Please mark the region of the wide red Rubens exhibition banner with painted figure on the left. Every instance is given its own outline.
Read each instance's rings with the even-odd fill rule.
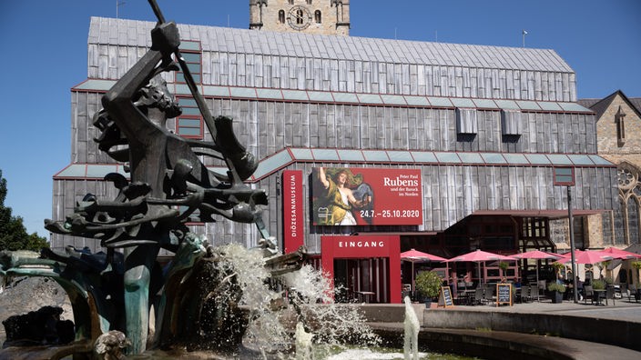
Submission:
[[[420,169],[315,167],[313,225],[422,225]]]

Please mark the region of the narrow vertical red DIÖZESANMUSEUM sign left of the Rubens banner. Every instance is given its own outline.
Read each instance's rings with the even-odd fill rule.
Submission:
[[[302,170],[282,172],[283,247],[289,254],[305,245],[303,227]]]

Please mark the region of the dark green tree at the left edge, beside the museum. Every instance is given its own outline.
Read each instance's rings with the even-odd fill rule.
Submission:
[[[43,247],[49,247],[46,237],[26,233],[22,217],[12,215],[11,207],[5,206],[6,193],[6,179],[0,170],[0,250],[39,252]]]

